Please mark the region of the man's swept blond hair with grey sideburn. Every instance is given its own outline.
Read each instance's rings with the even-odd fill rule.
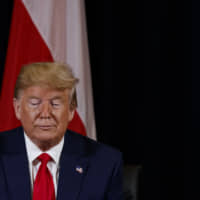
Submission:
[[[17,77],[14,97],[19,92],[31,86],[47,86],[56,90],[71,90],[71,106],[77,107],[75,86],[78,79],[72,73],[69,65],[58,62],[40,62],[24,65]]]

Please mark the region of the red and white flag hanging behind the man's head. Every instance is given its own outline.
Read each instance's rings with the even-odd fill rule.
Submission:
[[[59,61],[76,77],[78,108],[69,129],[96,139],[83,0],[14,0],[0,96],[0,131],[20,126],[13,109],[17,75],[24,64]]]

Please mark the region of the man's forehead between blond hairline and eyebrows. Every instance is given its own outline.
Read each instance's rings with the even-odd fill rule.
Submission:
[[[45,98],[45,99],[55,98],[55,97],[68,98],[69,92],[70,92],[69,89],[57,90],[57,89],[52,89],[46,86],[31,86],[21,91],[20,96],[26,97],[26,98],[36,97],[36,98]]]

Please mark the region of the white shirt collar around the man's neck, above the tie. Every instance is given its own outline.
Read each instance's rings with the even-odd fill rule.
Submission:
[[[62,151],[63,145],[64,145],[64,137],[57,145],[55,145],[54,147],[52,147],[51,149],[49,149],[48,151],[45,151],[45,152],[41,151],[37,147],[37,145],[35,145],[31,141],[31,139],[26,135],[25,132],[24,132],[24,137],[25,137],[26,150],[27,150],[27,154],[28,154],[28,160],[30,163],[32,163],[40,154],[48,153],[51,156],[51,158],[53,159],[53,161],[56,163],[56,165],[58,166],[61,151]]]

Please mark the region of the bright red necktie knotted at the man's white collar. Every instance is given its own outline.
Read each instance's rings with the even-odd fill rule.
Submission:
[[[41,161],[41,165],[34,182],[33,200],[55,200],[53,178],[47,167],[51,157],[47,153],[43,153],[38,159]]]

